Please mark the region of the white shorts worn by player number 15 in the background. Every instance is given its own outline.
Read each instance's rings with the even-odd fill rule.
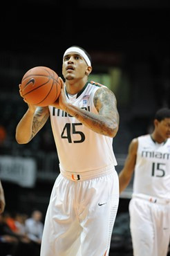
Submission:
[[[129,204],[134,256],[167,256],[170,201],[138,194]]]

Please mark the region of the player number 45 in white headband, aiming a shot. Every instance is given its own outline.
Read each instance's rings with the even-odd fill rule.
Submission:
[[[35,107],[17,125],[18,143],[28,143],[48,116],[60,174],[50,196],[41,256],[106,256],[119,202],[113,137],[119,126],[115,95],[89,82],[91,57],[78,46],[63,57],[62,91],[53,106]],[[20,94],[22,95],[21,89]]]

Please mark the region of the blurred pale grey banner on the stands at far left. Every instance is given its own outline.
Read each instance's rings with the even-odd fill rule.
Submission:
[[[21,187],[32,188],[35,185],[37,165],[33,158],[0,156],[0,179],[11,181]]]

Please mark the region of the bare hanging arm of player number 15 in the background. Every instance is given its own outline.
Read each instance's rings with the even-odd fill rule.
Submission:
[[[129,145],[129,152],[124,167],[119,174],[120,193],[129,185],[135,168],[136,154],[138,149],[138,138],[133,138]]]

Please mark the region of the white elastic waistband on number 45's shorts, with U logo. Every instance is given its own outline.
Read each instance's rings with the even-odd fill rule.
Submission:
[[[109,165],[103,169],[93,170],[88,172],[66,172],[60,167],[60,173],[71,181],[85,181],[87,179],[97,178],[106,174],[111,174],[115,171],[115,165]]]

